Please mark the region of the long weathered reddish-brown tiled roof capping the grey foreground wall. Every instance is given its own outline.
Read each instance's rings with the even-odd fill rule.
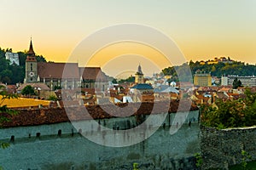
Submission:
[[[10,119],[9,122],[3,122],[2,127],[21,127],[58,122],[79,121],[86,119],[103,119],[111,118],[115,114],[117,116],[127,116],[128,114],[130,116],[131,114],[129,110],[128,113],[117,110],[115,105],[113,104],[105,106],[108,107],[108,111],[111,111],[110,113],[102,110],[102,107],[100,105],[89,105],[86,106],[86,110],[89,112],[90,115],[88,113],[84,114],[84,106],[79,106],[78,101],[74,100],[72,102],[77,102],[77,104],[73,107],[66,108],[43,108],[29,110],[22,109],[18,110],[19,114],[15,116],[9,116],[9,114],[6,113],[0,113],[0,116],[6,116]],[[158,105],[154,105],[154,103],[143,102],[142,104],[130,103],[129,106],[131,106],[131,109],[135,111],[134,115],[158,114],[166,111],[166,109],[168,109],[168,112],[170,113],[175,113],[178,111],[178,109],[179,111],[188,111],[188,109],[190,109],[190,111],[198,110],[195,105],[190,105],[190,102],[188,102],[188,100],[180,100],[179,103],[176,100],[172,100],[171,102],[158,102],[157,104]],[[120,104],[119,107],[125,107],[127,105],[128,104]]]

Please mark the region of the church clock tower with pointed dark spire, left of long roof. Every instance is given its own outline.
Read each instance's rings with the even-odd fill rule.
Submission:
[[[24,83],[37,82],[38,78],[38,62],[30,40],[29,50],[26,56],[26,78]]]

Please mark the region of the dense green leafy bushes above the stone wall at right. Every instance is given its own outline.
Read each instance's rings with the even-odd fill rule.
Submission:
[[[251,127],[256,125],[256,94],[246,91],[245,99],[216,101],[202,105],[201,123],[207,127]]]

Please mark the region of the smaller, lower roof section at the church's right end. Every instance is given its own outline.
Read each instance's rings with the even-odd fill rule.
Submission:
[[[108,80],[101,67],[79,67],[79,75],[84,80]]]

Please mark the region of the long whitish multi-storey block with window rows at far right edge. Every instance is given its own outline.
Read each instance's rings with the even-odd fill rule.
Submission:
[[[241,85],[244,87],[256,87],[256,77],[254,76],[237,76],[237,75],[228,75],[221,77],[221,85],[227,86],[227,85],[233,85],[233,82],[235,79],[238,79],[241,81]]]

